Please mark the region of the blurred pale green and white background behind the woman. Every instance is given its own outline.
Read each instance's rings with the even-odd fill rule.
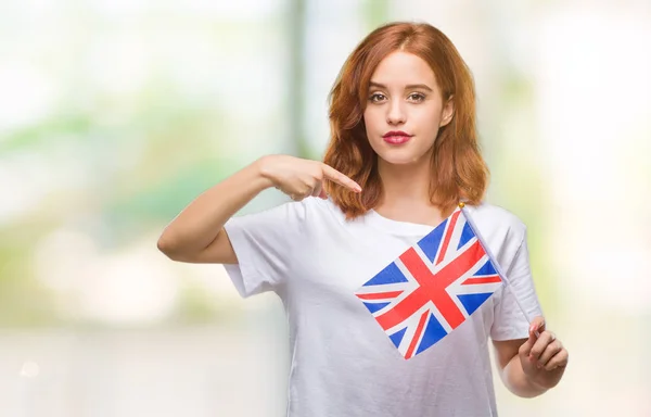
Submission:
[[[1,417],[283,415],[279,300],[156,240],[260,155],[320,159],[341,65],[395,20],[472,68],[487,200],[571,353],[541,397],[496,378],[500,415],[651,416],[650,1],[1,0]]]

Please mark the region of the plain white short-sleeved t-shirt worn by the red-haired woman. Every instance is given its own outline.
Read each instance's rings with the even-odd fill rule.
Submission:
[[[531,317],[540,314],[525,226],[503,208],[467,206]],[[244,298],[275,291],[289,317],[288,416],[496,416],[488,339],[527,338],[505,286],[432,348],[405,359],[356,290],[433,227],[374,211],[346,220],[309,198],[225,226],[238,265],[225,265]]]

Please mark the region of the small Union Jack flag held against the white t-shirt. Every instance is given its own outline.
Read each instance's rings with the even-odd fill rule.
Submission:
[[[355,294],[409,359],[459,327],[501,283],[457,208]]]

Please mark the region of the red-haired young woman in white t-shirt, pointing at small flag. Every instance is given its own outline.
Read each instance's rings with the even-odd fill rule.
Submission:
[[[489,339],[514,394],[554,387],[567,352],[545,328],[525,226],[482,202],[474,87],[450,40],[427,24],[372,31],[332,89],[330,122],[323,162],[264,156],[196,198],[158,241],[171,260],[225,264],[242,296],[281,298],[292,350],[288,414],[495,416]],[[233,217],[271,187],[294,202]],[[356,290],[460,201],[511,288],[406,361]]]

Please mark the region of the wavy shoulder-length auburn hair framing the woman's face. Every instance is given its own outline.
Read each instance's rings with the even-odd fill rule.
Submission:
[[[362,188],[361,193],[354,193],[332,182],[324,185],[347,218],[375,207],[382,197],[378,156],[367,138],[363,112],[372,74],[386,55],[398,50],[424,60],[434,72],[444,103],[450,99],[454,103],[452,118],[434,142],[432,203],[447,213],[459,201],[478,204],[486,190],[488,168],[477,142],[470,70],[437,28],[425,23],[391,23],[370,33],[350,53],[329,96],[331,137],[323,162]]]

